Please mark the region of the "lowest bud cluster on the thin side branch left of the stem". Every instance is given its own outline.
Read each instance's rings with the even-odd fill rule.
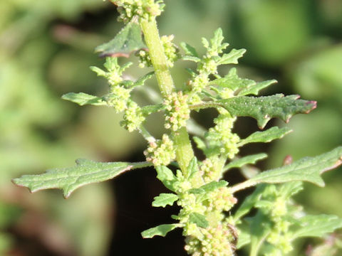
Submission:
[[[120,123],[128,129],[128,132],[133,132],[140,127],[142,122],[145,121],[145,117],[142,114],[141,107],[137,103],[130,100],[128,102],[127,109],[123,115],[123,121]]]

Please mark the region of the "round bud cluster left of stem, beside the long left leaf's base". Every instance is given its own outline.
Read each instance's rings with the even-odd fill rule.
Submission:
[[[163,134],[161,140],[150,142],[144,154],[146,161],[150,161],[154,166],[167,166],[176,157],[173,142],[167,134]]]

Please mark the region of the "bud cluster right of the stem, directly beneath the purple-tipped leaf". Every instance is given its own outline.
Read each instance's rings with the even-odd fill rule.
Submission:
[[[235,119],[236,117],[232,117],[227,111],[214,119],[216,125],[210,128],[206,135],[213,153],[222,154],[222,156],[232,159],[239,152],[237,144],[240,138],[232,132]]]

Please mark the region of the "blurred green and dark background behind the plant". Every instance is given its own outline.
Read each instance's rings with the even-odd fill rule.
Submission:
[[[267,151],[264,169],[281,165],[288,154],[296,160],[342,144],[341,0],[165,2],[158,19],[162,34],[202,49],[200,38],[222,27],[232,47],[247,48],[239,75],[278,80],[265,95],[284,92],[318,101],[311,114],[286,124],[293,133],[242,154]],[[163,189],[152,170],[81,188],[67,201],[59,191],[31,195],[11,183],[21,174],[71,166],[79,157],[143,159],[145,142],[120,127],[119,114],[60,99],[66,92],[105,92],[105,80],[88,67],[102,65],[93,49],[123,26],[116,18],[115,6],[100,0],[0,1],[0,255],[185,255],[180,233],[140,238],[142,230],[170,222],[177,211],[150,206]],[[172,70],[179,86],[187,79],[187,64]],[[138,77],[146,70],[129,72]],[[209,126],[210,120],[199,122]],[[238,122],[242,136],[256,129],[249,119]],[[309,213],[342,217],[342,174],[335,170],[324,178],[326,188],[306,185],[297,199]]]

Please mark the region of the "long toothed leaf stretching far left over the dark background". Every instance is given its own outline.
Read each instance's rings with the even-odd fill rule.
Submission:
[[[101,163],[86,159],[77,159],[76,166],[51,169],[44,174],[24,175],[14,178],[12,181],[18,186],[27,187],[31,193],[42,189],[59,188],[63,191],[63,196],[68,198],[76,188],[81,186],[107,181],[125,171],[151,166],[150,163],[126,163],[113,162]]]

